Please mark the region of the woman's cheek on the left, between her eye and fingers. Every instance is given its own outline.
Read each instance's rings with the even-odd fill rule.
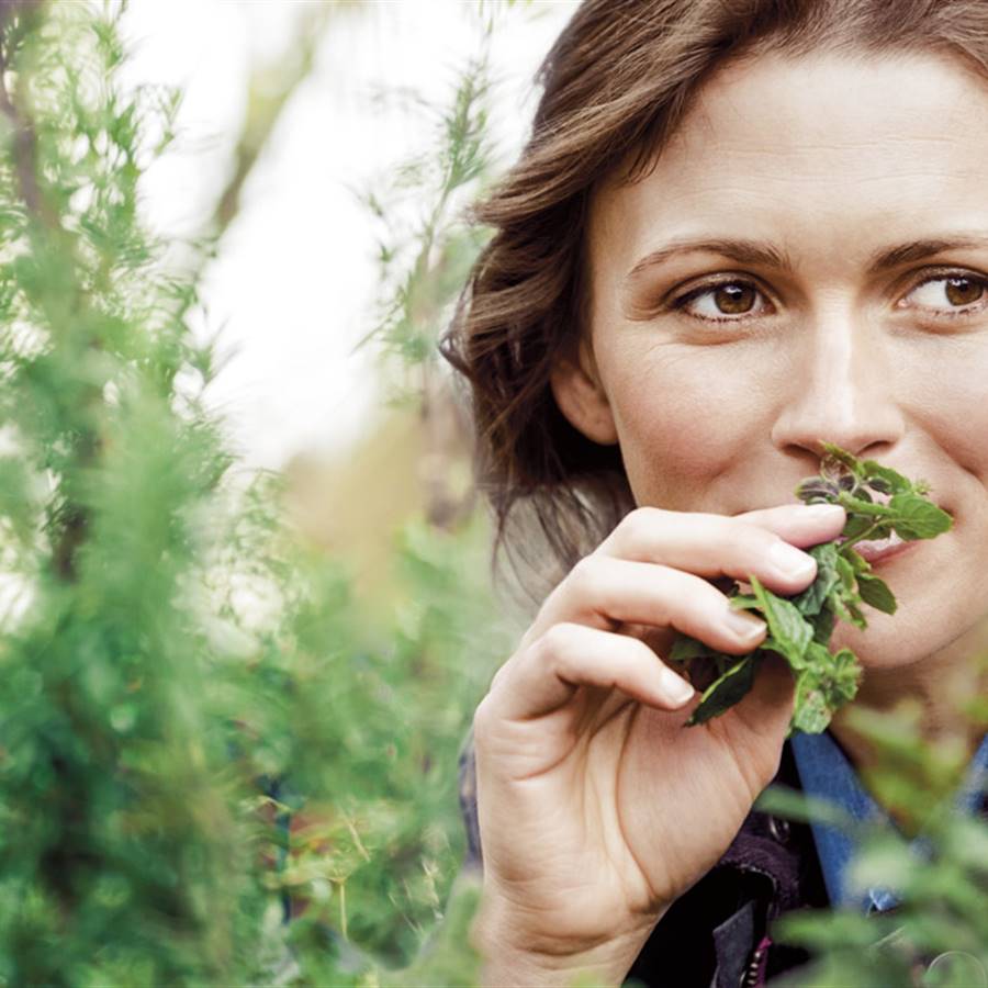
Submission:
[[[655,348],[622,361],[611,407],[638,504],[717,508],[718,478],[743,458],[768,401],[726,350]]]

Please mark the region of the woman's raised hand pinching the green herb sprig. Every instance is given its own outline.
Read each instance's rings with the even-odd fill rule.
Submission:
[[[793,677],[770,659],[742,703],[685,728],[696,694],[662,656],[676,631],[751,651],[765,625],[709,581],[798,593],[816,563],[795,547],[843,524],[829,505],[639,508],[546,599],[474,717],[487,980],[583,962],[619,983],[723,854],[777,771]]]

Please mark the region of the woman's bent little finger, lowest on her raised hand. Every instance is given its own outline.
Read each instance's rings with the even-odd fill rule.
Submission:
[[[694,695],[642,641],[585,625],[553,625],[499,670],[478,717],[529,720],[558,710],[581,686],[617,688],[675,710]]]

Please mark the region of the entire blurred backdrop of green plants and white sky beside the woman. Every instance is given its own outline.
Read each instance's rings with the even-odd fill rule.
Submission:
[[[0,985],[475,981],[436,341],[572,9],[0,7]]]

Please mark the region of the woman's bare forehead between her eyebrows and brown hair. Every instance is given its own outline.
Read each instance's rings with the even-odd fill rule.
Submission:
[[[988,82],[959,57],[737,63],[700,90],[643,179],[596,192],[592,268],[633,265],[677,236],[765,237],[850,260],[852,246],[871,256],[883,239],[969,227],[976,214],[988,228],[986,162]]]

